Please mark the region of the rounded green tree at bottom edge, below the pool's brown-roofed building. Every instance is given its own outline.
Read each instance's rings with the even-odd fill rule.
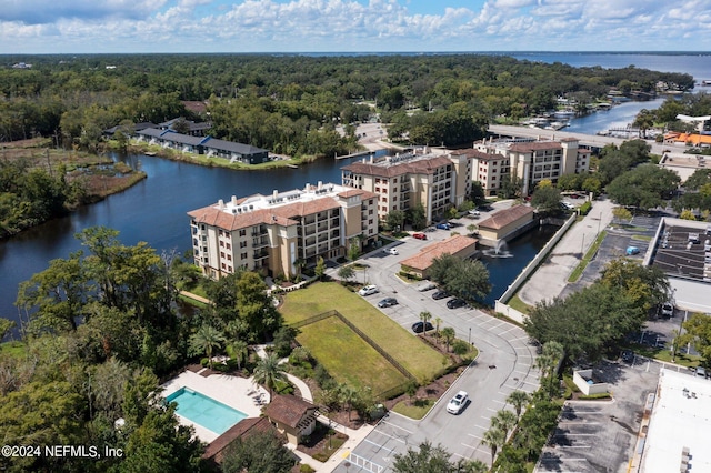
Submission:
[[[234,440],[220,464],[224,473],[289,473],[298,457],[270,432]]]

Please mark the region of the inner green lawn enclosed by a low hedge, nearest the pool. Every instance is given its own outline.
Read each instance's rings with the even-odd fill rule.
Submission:
[[[370,386],[378,394],[408,381],[375,349],[336,316],[299,330],[299,343],[307,346],[311,355],[340,383],[356,388]]]

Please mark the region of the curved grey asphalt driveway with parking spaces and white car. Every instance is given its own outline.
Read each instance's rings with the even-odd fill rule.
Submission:
[[[424,440],[434,445],[442,444],[453,454],[453,460],[479,459],[489,463],[491,453],[481,444],[481,439],[490,426],[490,419],[497,411],[507,409],[505,399],[512,391],[538,389],[540,373],[532,368],[535,348],[528,343],[522,329],[475,309],[450,310],[447,300],[432,300],[433,291],[418,292],[418,283],[408,284],[395,275],[400,260],[415,254],[432,241],[449,236],[449,232],[442,230],[427,234],[429,240],[424,242],[407,238],[388,246],[397,248],[399,255],[382,251],[365,255],[359,262],[368,264],[369,269],[359,272],[357,279],[362,282],[367,278],[380,289],[380,293],[365,298],[373,304],[385,296],[398,299],[398,305],[382,311],[408,331],[419,321],[420,312],[429,311],[433,319],[442,319],[441,326],[452,326],[459,339],[474,343],[480,351],[479,359],[450,386],[427,417],[413,421],[391,413],[341,462],[337,472],[387,471],[395,453],[417,447]],[[459,390],[467,391],[471,402],[454,416],[448,414],[445,407]],[[347,467],[347,463],[350,466]]]

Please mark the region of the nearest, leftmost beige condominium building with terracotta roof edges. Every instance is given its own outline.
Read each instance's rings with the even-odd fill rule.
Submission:
[[[290,278],[319,256],[343,256],[378,238],[378,195],[338,184],[307,184],[188,212],[196,264],[219,279],[243,268]]]

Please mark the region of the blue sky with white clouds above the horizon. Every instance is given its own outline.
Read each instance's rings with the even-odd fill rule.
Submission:
[[[711,51],[711,0],[2,0],[0,53]]]

